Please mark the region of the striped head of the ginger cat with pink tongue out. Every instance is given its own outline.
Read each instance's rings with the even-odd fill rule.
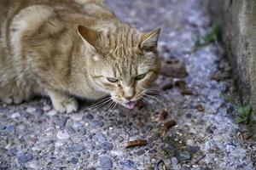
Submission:
[[[87,69],[96,89],[114,102],[133,109],[160,72],[157,42],[160,29],[141,32],[122,25],[108,30],[79,26],[89,48]]]

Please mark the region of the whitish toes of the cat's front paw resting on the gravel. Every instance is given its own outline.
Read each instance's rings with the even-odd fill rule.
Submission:
[[[52,101],[52,104],[54,105],[55,110],[61,113],[71,113],[73,111],[78,111],[79,109],[79,103],[74,98],[55,99]]]

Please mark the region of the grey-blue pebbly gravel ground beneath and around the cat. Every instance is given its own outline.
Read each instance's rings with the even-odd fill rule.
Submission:
[[[171,88],[148,99],[143,109],[92,111],[84,104],[69,115],[52,110],[49,99],[1,104],[0,169],[255,169],[256,144],[246,128],[237,126],[232,105],[221,97],[232,91],[232,80],[210,78],[229,70],[223,50],[218,43],[195,48],[197,37],[211,25],[201,1],[107,2],[121,20],[143,31],[162,28],[160,55],[183,60],[189,73],[183,80],[194,95]],[[156,86],[176,80],[162,75]],[[169,114],[161,121],[163,109]],[[170,119],[177,125],[161,136]],[[148,144],[125,148],[133,139]]]

